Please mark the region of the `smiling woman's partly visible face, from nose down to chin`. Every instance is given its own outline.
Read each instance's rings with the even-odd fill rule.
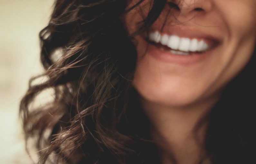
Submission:
[[[126,15],[129,32],[138,28],[150,3],[145,0]],[[157,45],[149,44],[146,51],[143,34],[135,37],[138,58],[133,86],[145,100],[168,106],[218,95],[244,68],[256,45],[255,0],[183,0],[178,6],[167,15],[166,4],[150,27],[150,40]],[[156,31],[160,35],[152,33]]]

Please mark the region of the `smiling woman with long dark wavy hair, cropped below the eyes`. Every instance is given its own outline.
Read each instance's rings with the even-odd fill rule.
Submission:
[[[56,0],[48,78],[20,106],[38,163],[255,163],[255,16],[253,0]]]

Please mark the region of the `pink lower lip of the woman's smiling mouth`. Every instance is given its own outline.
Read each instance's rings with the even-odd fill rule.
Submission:
[[[213,50],[215,50],[216,48],[214,47],[211,50],[205,51],[203,53],[191,52],[188,55],[179,55],[168,51],[160,50],[156,45],[150,44],[147,41],[146,43],[148,44],[148,54],[153,58],[162,62],[177,63],[181,65],[189,65],[200,62],[211,56],[211,54],[213,54]]]

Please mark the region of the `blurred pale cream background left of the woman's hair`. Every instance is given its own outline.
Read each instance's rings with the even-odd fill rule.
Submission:
[[[39,31],[53,0],[0,0],[0,163],[32,163],[24,149],[18,108],[30,77],[43,69]],[[32,152],[33,153],[33,152]]]

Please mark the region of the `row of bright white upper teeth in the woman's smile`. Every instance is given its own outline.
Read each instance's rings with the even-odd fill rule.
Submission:
[[[161,43],[173,50],[180,50],[185,52],[205,51],[210,46],[204,41],[198,41],[196,38],[190,40],[189,38],[180,38],[176,35],[161,35],[158,31],[149,33],[149,40],[156,43]]]

